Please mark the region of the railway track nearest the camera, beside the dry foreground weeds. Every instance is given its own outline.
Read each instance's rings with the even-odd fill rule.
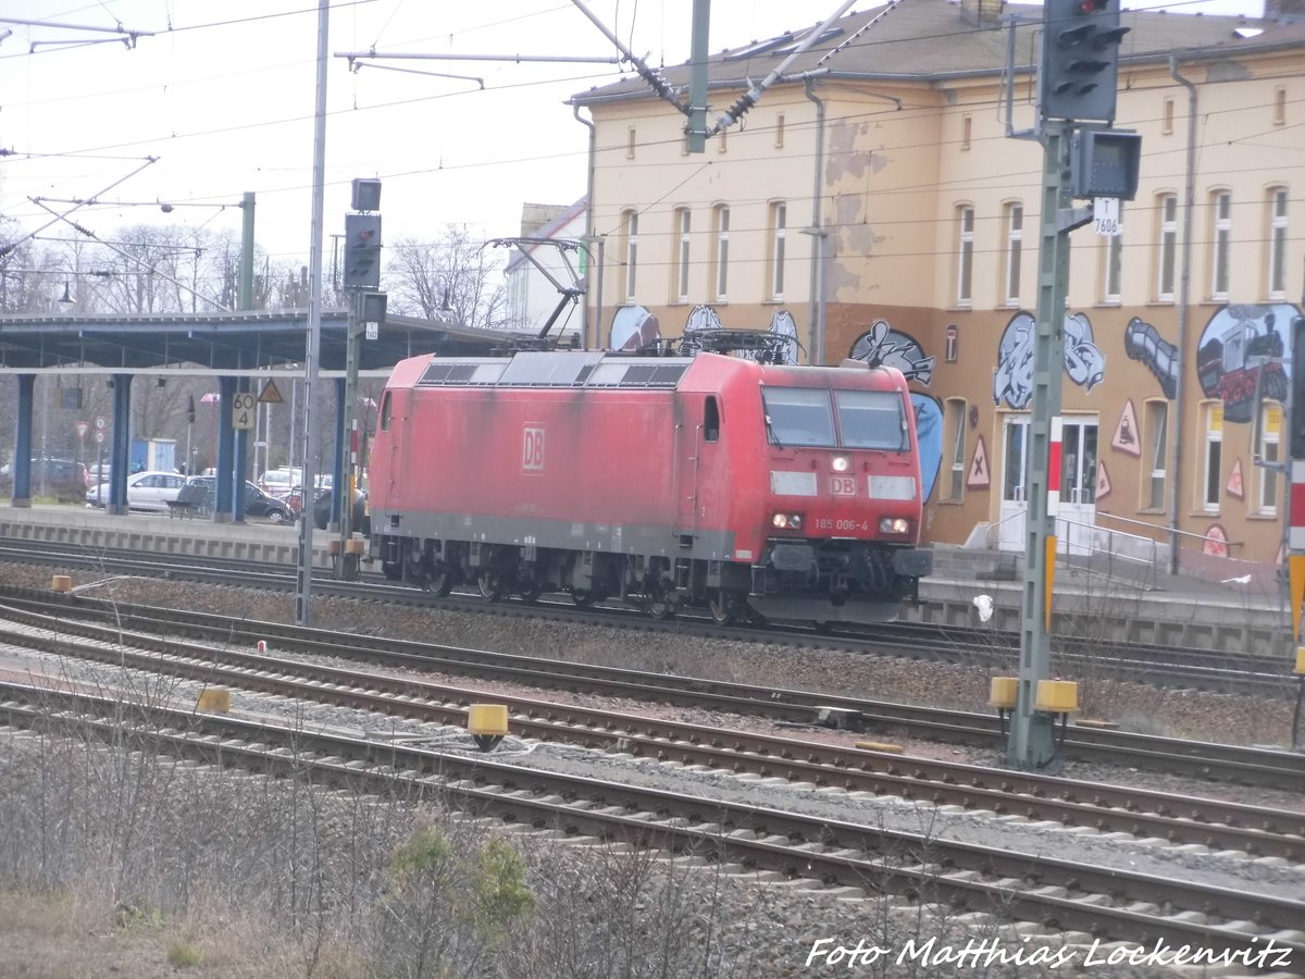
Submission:
[[[823,886],[937,902],[998,920],[1035,922],[1081,940],[1189,945],[1305,963],[1305,902],[1091,863],[809,816],[624,781],[325,730],[124,704],[29,684],[0,684],[0,722],[355,791],[437,795],[445,804],[566,835],[636,842]],[[1053,937],[1048,935],[1048,937]],[[1054,939],[1053,939],[1054,940]]]

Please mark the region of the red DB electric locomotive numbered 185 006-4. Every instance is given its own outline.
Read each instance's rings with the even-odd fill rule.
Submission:
[[[489,600],[566,591],[883,621],[932,570],[893,368],[603,351],[405,360],[371,458],[371,556]]]

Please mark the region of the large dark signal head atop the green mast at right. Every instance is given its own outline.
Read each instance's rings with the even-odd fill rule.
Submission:
[[[1047,0],[1039,114],[1043,119],[1114,121],[1120,0]]]

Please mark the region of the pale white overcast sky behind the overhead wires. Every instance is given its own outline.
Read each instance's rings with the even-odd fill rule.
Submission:
[[[711,50],[817,23],[839,5],[716,0]],[[1261,0],[1126,5],[1251,16],[1262,9]],[[586,7],[652,64],[688,56],[692,0],[586,0]],[[307,260],[313,0],[0,7],[0,18],[13,17],[42,25],[0,22],[0,34],[12,31],[0,40],[0,149],[12,154],[0,158],[0,214],[30,231],[52,218],[29,197],[54,198],[47,205],[56,210],[70,206],[59,198],[98,197],[112,206],[82,208],[74,217],[104,238],[157,221],[239,235],[241,214],[232,205],[252,191],[258,244],[277,260]],[[87,30],[119,26],[141,33],[134,47]],[[334,56],[371,50],[615,56],[572,0],[331,0],[328,50],[328,236],[343,231],[355,176],[382,181],[386,240],[435,239],[448,223],[483,236],[518,234],[522,202],[570,204],[585,193],[587,131],[565,99],[621,77],[611,64],[484,60],[378,60],[350,72],[348,61]],[[147,157],[158,161],[123,180]],[[176,208],[164,217],[162,202]],[[76,232],[57,222],[42,236]]]

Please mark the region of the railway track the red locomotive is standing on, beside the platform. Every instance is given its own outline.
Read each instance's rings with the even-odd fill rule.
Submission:
[[[42,548],[48,546],[42,544]],[[0,560],[33,561],[38,556],[50,564],[77,564],[100,572],[192,580],[221,585],[254,586],[292,593],[295,574],[279,565],[262,568],[247,563],[191,559],[177,555],[142,557],[136,552],[87,552],[85,548],[55,547],[35,555],[31,542],[20,547],[0,546]],[[805,627],[780,624],[714,625],[709,617],[681,617],[675,623],[654,623],[628,608],[576,608],[569,599],[523,603],[518,600],[487,604],[472,595],[433,598],[415,589],[395,586],[380,578],[359,582],[315,577],[318,595],[393,602],[408,606],[437,604],[441,608],[553,617],[568,621],[633,625],[641,630],[699,630],[701,634],[752,642],[800,645],[808,649],[910,657],[930,662],[981,664],[994,672],[1014,671],[1019,638],[1014,633],[921,623],[891,623],[873,630],[847,629],[833,634]],[[3,595],[4,593],[0,593]],[[1168,649],[1148,644],[1091,644],[1074,637],[1053,637],[1057,671],[1066,677],[1092,676],[1128,679],[1139,683],[1218,693],[1241,693],[1289,700],[1296,696],[1289,663],[1278,657],[1231,655],[1210,649]]]

